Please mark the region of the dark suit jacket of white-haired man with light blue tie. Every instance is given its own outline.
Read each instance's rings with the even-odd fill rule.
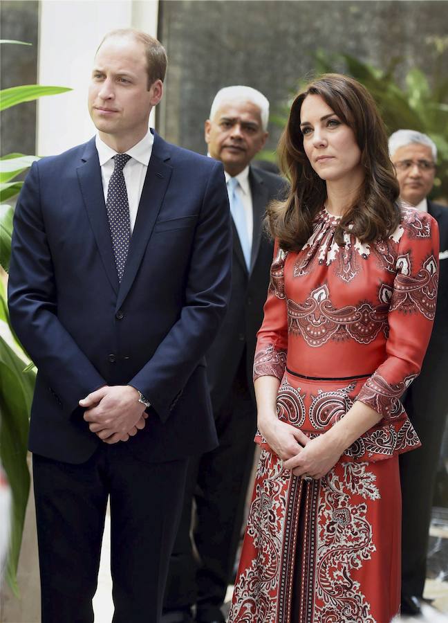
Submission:
[[[221,406],[230,392],[245,347],[248,386],[253,396],[256,332],[263,320],[273,253],[273,243],[263,231],[263,219],[268,203],[280,197],[286,189],[286,182],[279,175],[253,167],[250,168],[249,182],[254,213],[250,271],[232,222],[232,295],[223,326],[206,356],[214,410]]]

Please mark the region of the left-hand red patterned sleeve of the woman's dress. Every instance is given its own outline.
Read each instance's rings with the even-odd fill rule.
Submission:
[[[258,377],[281,380],[286,368],[288,349],[288,314],[286,311],[284,268],[287,253],[274,244],[274,261],[270,269],[268,298],[264,306],[263,324],[257,334],[254,381]]]

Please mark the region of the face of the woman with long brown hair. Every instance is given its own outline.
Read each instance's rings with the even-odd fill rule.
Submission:
[[[351,127],[319,95],[308,95],[300,110],[304,150],[312,168],[326,182],[364,178],[361,150]]]

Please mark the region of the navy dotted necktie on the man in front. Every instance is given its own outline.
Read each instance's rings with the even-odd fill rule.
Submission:
[[[129,240],[131,240],[129,202],[123,175],[124,165],[130,158],[131,156],[128,156],[128,154],[116,154],[113,156],[115,166],[109,180],[109,188],[107,189],[107,218],[109,219],[113,255],[115,255],[115,266],[117,267],[119,282],[122,280],[124,264],[126,264],[129,250]]]

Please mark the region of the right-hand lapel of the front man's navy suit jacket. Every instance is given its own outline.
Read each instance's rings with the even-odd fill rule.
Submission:
[[[169,146],[158,134],[155,134],[151,159],[138,204],[136,224],[133,228],[129,253],[118,293],[117,309],[121,307],[129,289],[131,289],[133,280],[136,278],[154,223],[162,207],[162,201],[173,170],[170,165],[165,163],[169,158]]]

